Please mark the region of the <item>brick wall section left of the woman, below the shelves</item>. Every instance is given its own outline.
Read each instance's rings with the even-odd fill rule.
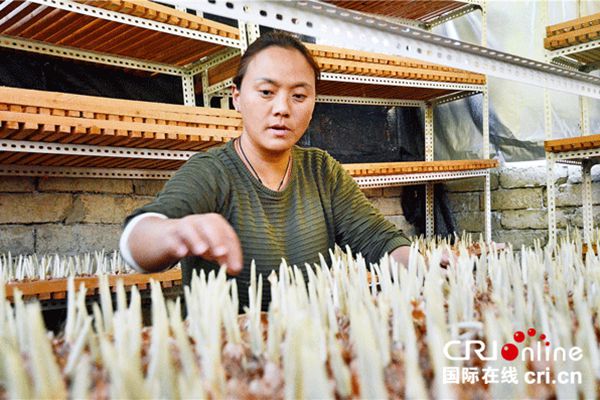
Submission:
[[[0,253],[76,254],[118,247],[123,219],[164,182],[0,177]]]

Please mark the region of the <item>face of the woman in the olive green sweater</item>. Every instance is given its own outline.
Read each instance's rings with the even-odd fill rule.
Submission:
[[[257,150],[289,150],[304,134],[315,107],[315,74],[295,49],[271,46],[246,69],[233,103],[242,113],[244,133]]]

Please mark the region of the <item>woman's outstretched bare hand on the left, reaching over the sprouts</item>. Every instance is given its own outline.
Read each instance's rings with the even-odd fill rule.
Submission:
[[[233,227],[220,214],[195,214],[178,219],[148,217],[131,232],[134,260],[156,271],[186,256],[200,256],[238,274],[243,267],[242,246]]]

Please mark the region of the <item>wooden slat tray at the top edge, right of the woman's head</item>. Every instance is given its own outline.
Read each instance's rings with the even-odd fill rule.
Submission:
[[[394,18],[414,19],[429,22],[444,14],[468,5],[462,1],[423,1],[423,0],[326,0],[338,7],[350,10],[385,15]]]

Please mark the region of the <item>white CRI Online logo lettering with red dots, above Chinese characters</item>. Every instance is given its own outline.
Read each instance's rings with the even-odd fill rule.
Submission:
[[[537,331],[534,328],[527,330],[527,336],[534,338]],[[517,331],[513,335],[513,339],[517,343],[523,343],[525,341],[525,333]],[[566,361],[567,359],[573,361],[579,361],[583,358],[583,351],[580,347],[571,347],[569,350],[564,347],[556,346],[550,348],[550,341],[546,340],[546,335],[541,334],[538,336],[539,341],[534,346],[519,348],[513,343],[506,343],[500,350],[500,355],[506,361],[513,361],[517,357],[521,356],[523,361]],[[542,343],[544,345],[542,346]],[[460,350],[464,347],[464,353]],[[452,354],[451,354],[451,351]],[[487,351],[486,351],[487,350]],[[480,359],[484,361],[497,360],[498,359],[498,345],[496,342],[492,342],[490,346],[486,346],[482,340],[450,340],[444,346],[444,355],[449,360],[468,360],[471,355],[471,351]],[[484,354],[484,353],[487,353]],[[458,355],[457,355],[458,354]]]

